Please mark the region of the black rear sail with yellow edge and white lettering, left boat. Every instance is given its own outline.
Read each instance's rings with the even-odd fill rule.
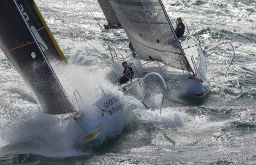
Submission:
[[[67,63],[35,2],[31,0],[16,0],[16,2],[47,59]]]

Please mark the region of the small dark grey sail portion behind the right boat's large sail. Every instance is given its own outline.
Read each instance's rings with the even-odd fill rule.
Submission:
[[[99,5],[101,6],[101,9],[102,9],[106,19],[107,19],[107,23],[119,25],[120,22],[117,19],[117,16],[116,16],[114,10],[112,9],[112,6],[109,3],[109,0],[98,0],[98,2],[99,2]]]

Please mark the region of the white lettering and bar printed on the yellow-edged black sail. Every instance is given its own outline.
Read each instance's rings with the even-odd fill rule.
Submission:
[[[24,7],[22,6],[22,4],[19,4],[18,6],[19,6],[19,9],[21,9],[21,12],[22,12],[24,18],[26,19],[27,24],[29,24],[29,22],[28,22],[29,21],[29,16],[27,15],[27,12],[24,10]],[[38,44],[40,45],[42,51],[47,50],[48,47],[47,47],[46,43],[42,39],[41,35],[38,33],[38,31],[40,29],[37,30],[36,27],[34,27],[34,26],[31,26],[30,29],[31,29],[32,33],[34,34],[34,36],[36,37],[36,40],[37,40]]]

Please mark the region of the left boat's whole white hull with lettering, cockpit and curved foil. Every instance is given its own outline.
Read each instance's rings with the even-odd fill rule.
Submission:
[[[150,73],[149,75],[157,73]],[[147,78],[149,75],[145,76]],[[162,77],[159,78],[164,83]],[[129,106],[132,102],[139,103],[144,108],[146,106],[144,101],[146,86],[143,82],[144,78],[134,78],[128,83],[121,85],[121,95],[105,95],[95,103],[87,105],[86,109],[79,110],[72,117],[77,121],[81,127],[81,137],[79,138],[86,144],[101,144],[105,139],[111,138],[119,134],[124,127],[132,120],[132,111]],[[164,93],[162,102],[164,101],[166,85],[164,85]],[[80,95],[79,95],[80,96]],[[137,101],[139,100],[139,101]],[[77,101],[81,102],[81,101]],[[81,107],[81,106],[79,106]],[[162,110],[162,103],[160,105]]]

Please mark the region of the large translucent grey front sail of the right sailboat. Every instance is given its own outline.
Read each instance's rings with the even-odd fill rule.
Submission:
[[[169,17],[158,0],[109,0],[141,60],[159,60],[192,71]]]

